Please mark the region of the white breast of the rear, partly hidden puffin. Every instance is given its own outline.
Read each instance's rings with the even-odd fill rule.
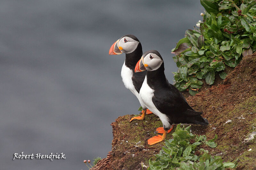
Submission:
[[[125,61],[124,61],[124,64],[123,64],[123,67],[122,67],[122,70],[121,70],[121,77],[122,77],[122,80],[124,82],[124,86],[127,89],[131,90],[131,92],[138,98],[138,100],[140,102],[140,105],[143,108],[145,108],[145,104],[142,102],[139,93],[137,92],[137,90],[135,89],[135,87],[133,85],[132,75],[133,75],[133,70],[128,68],[125,65]]]

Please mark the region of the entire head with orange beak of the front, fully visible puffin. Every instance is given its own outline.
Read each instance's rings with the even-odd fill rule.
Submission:
[[[163,58],[156,50],[145,52],[141,59],[137,62],[134,72],[154,71],[157,70],[163,63]]]

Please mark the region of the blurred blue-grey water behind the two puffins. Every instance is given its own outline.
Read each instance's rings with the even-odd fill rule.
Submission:
[[[171,49],[202,17],[198,1],[2,0],[0,2],[0,169],[88,169],[111,150],[116,117],[138,113],[125,89],[124,54],[113,42],[136,35],[158,50],[172,82]],[[12,160],[14,153],[65,160]]]

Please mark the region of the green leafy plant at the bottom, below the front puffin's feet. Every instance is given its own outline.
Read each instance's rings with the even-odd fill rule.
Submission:
[[[217,135],[207,141],[205,135],[193,135],[190,132],[190,127],[177,125],[175,132],[172,133],[173,139],[165,140],[165,146],[162,147],[159,154],[156,154],[156,160],[149,159],[148,170],[224,170],[228,167],[236,167],[236,163],[223,162],[220,156],[212,157],[208,150],[203,148],[198,150],[197,147],[201,144],[216,147],[217,144],[214,140],[217,139]],[[201,152],[201,155],[197,156],[196,151]]]

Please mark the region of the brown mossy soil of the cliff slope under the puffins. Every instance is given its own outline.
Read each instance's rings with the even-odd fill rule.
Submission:
[[[256,53],[245,56],[219,83],[187,97],[188,103],[204,112],[202,116],[209,121],[206,127],[192,125],[192,133],[205,134],[209,139],[217,134],[217,147],[203,146],[204,149],[225,161],[238,159],[236,169],[256,169]],[[160,142],[149,146],[147,139],[155,135],[162,123],[154,114],[146,115],[144,121],[129,123],[133,116],[118,117],[111,124],[112,151],[91,170],[139,170],[142,164],[147,169],[148,159],[154,159],[164,145]],[[171,133],[167,139],[172,137]]]

